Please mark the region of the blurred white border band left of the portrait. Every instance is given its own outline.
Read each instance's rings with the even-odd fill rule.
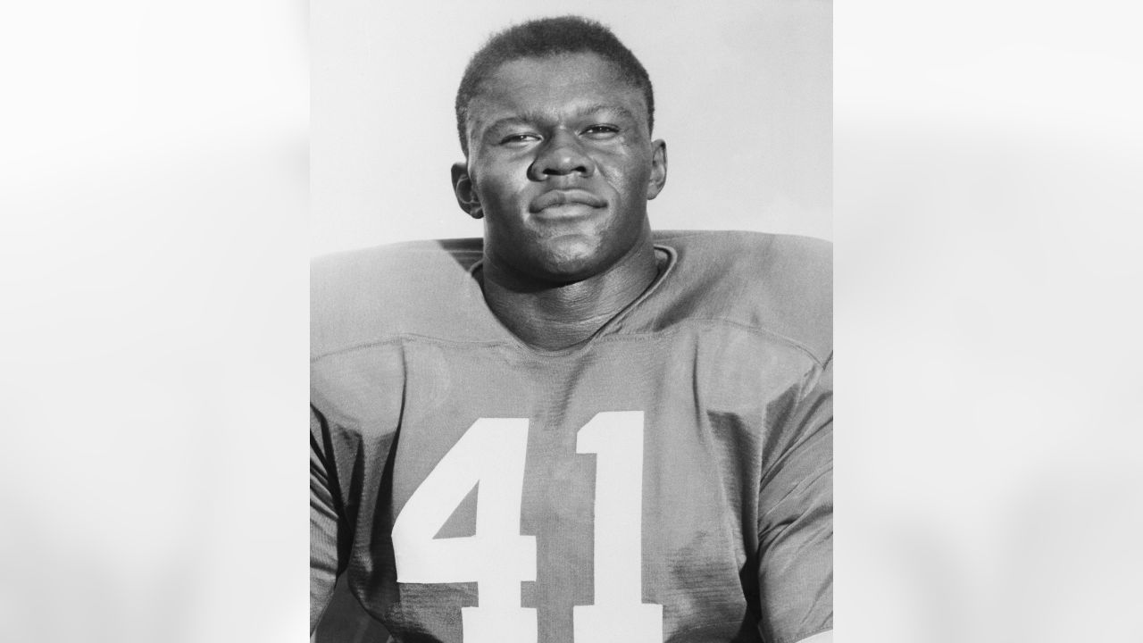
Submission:
[[[305,640],[306,10],[5,9],[5,641]]]

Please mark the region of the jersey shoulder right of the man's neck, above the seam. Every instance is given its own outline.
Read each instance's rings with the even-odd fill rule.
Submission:
[[[672,249],[676,296],[689,316],[784,338],[828,362],[833,350],[833,246],[760,232],[656,233]]]

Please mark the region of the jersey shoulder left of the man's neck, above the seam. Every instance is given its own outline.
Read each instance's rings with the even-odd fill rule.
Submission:
[[[481,254],[480,239],[447,239],[313,260],[311,357],[383,342],[402,333],[456,336],[455,331],[464,326],[455,319],[457,308],[473,303],[471,269]]]

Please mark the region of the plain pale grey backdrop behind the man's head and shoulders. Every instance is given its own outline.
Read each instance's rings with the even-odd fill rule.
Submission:
[[[453,104],[469,57],[505,26],[575,13],[634,51],[668,144],[657,229],[829,239],[831,5],[822,0],[551,0],[312,6],[312,253],[479,237],[456,206]]]

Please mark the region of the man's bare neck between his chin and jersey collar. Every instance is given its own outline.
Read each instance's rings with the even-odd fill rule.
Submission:
[[[569,284],[521,283],[485,262],[485,301],[517,338],[559,350],[583,343],[650,286],[658,262],[649,233],[607,271]]]

